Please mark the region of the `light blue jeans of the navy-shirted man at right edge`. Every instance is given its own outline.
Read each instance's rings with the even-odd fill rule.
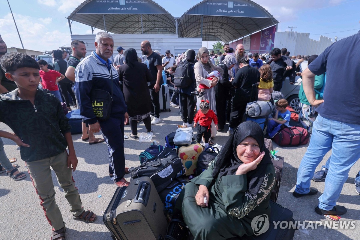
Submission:
[[[309,147],[297,172],[295,191],[309,193],[315,168],[332,149],[324,193],[319,197],[319,208],[331,210],[336,205],[350,168],[360,158],[359,145],[360,124],[343,123],[319,114],[312,128]]]

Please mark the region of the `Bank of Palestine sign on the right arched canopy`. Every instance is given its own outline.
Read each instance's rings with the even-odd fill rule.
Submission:
[[[264,9],[246,0],[208,0],[194,6],[185,14],[227,17],[271,18]]]

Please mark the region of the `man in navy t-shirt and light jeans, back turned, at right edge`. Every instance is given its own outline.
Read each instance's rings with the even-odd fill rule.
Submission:
[[[318,107],[309,147],[297,172],[295,197],[315,195],[318,190],[310,187],[315,168],[332,149],[325,189],[315,208],[318,214],[341,215],[346,208],[336,204],[350,168],[360,158],[360,64],[343,53],[360,54],[360,32],[327,47],[302,73],[306,98]],[[339,59],[342,59],[339,64]],[[323,100],[316,100],[315,75],[327,73]],[[360,184],[360,183],[359,183]],[[355,180],[355,186],[357,182]]]

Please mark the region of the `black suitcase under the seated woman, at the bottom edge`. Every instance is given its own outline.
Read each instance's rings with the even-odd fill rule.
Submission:
[[[233,238],[235,239],[244,239],[244,240],[291,240],[294,237],[295,230],[295,221],[293,219],[293,213],[291,210],[283,207],[280,204],[277,204],[270,200],[271,213],[269,217],[269,229],[260,234],[258,236],[242,236],[241,238]],[[280,225],[285,226],[284,223],[278,224],[275,229],[274,222],[287,222],[286,228],[281,228]],[[292,222],[292,223],[290,223]]]

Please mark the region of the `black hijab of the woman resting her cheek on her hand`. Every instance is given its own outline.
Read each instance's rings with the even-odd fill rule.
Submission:
[[[226,142],[225,146],[221,149],[220,154],[217,155],[212,176],[216,178],[218,175],[220,177],[235,175],[239,165],[243,164],[238,158],[236,148],[247,137],[252,137],[257,141],[260,152],[265,151],[264,158],[262,158],[257,168],[246,174],[248,191],[253,195],[257,195],[260,186],[264,181],[267,164],[273,164],[273,162],[271,162],[270,152],[264,144],[264,132],[256,122],[245,121],[240,123],[233,135],[231,135],[230,139]]]

